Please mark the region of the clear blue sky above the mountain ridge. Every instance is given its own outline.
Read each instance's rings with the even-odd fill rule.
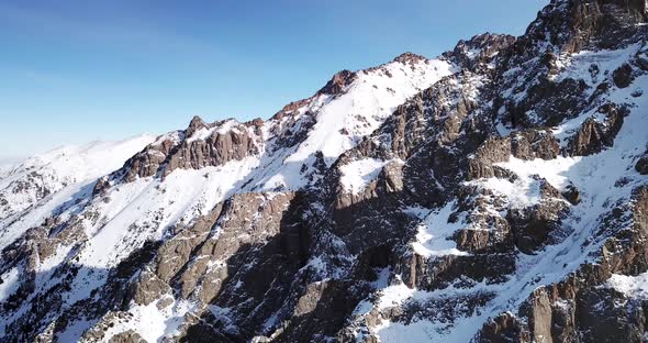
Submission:
[[[519,35],[548,0],[0,0],[0,158],[269,118],[340,69]]]

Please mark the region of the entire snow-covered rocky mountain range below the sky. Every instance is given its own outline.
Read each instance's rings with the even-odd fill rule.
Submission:
[[[0,342],[641,342],[647,10],[1,169]]]

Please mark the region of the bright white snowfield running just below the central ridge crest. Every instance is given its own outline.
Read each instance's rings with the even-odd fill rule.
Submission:
[[[305,186],[309,180],[301,168],[313,164],[316,152],[322,152],[325,163],[331,166],[342,153],[378,129],[398,106],[455,71],[456,66],[442,59],[421,60],[413,65],[392,62],[358,71],[357,79],[344,93],[337,97],[321,95],[295,111],[300,115],[314,113],[315,124],[308,137],[294,148],[265,156],[261,162],[264,172],[254,178],[250,187],[297,190]],[[273,124],[268,121],[266,132]]]

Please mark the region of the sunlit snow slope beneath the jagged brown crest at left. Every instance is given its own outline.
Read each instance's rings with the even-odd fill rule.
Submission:
[[[220,167],[177,169],[164,181],[144,178],[116,186],[108,202],[94,204],[102,217],[87,225],[91,240],[83,264],[111,267],[147,239],[161,237],[165,229],[206,214],[257,164],[257,158],[247,157]]]

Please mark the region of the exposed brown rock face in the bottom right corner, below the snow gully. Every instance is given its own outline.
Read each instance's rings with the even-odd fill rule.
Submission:
[[[481,341],[491,338],[504,340],[513,332],[521,342],[578,339],[615,342],[619,338],[627,342],[640,342],[646,330],[645,300],[627,298],[603,284],[613,274],[637,275],[648,270],[646,252],[640,247],[645,244],[641,241],[648,228],[645,212],[648,209],[647,196],[645,187],[635,190],[635,225],[603,246],[601,264],[584,265],[576,275],[537,289],[522,306],[522,320],[500,319],[487,323],[479,335]],[[621,302],[625,305],[618,306]]]

